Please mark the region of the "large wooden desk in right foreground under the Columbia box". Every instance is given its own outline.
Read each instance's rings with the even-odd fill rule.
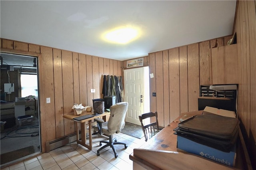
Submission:
[[[202,111],[194,111],[182,113],[182,115],[200,115]],[[180,116],[181,117],[181,116]],[[169,169],[252,169],[250,160],[247,161],[247,150],[243,150],[241,146],[242,135],[238,142],[236,167],[226,166],[210,159],[191,154],[188,152],[180,152],[177,150],[177,136],[173,129],[178,126],[179,119],[175,119],[170,125],[163,128],[153,138],[150,138],[146,144],[140,148],[134,148],[134,152],[130,154],[130,160],[133,161],[134,170],[153,169],[153,170],[169,170]],[[247,157],[247,158],[246,158]]]

